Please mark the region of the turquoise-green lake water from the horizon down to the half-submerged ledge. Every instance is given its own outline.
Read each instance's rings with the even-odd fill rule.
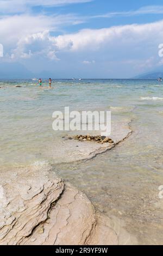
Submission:
[[[111,107],[112,116],[120,117],[133,117],[136,108],[135,118],[141,115],[145,121],[147,113],[157,124],[162,120],[163,87],[157,81],[58,80],[54,89],[43,82],[40,89],[32,80],[1,81],[1,164],[45,160],[48,147],[64,135],[52,130],[52,113],[65,106],[78,111]]]

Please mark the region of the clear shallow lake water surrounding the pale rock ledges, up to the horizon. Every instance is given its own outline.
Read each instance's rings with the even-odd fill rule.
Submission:
[[[97,209],[124,220],[140,244],[163,244],[163,199],[158,197],[163,185],[163,83],[58,80],[52,86],[0,81],[1,166],[53,163],[50,150],[64,136],[52,130],[53,111],[111,107],[112,117],[132,119],[133,134],[95,159],[54,164],[54,170],[84,191]]]

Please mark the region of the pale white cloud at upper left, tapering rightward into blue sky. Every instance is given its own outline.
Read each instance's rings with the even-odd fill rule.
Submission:
[[[43,31],[58,31],[62,26],[74,25],[74,23],[83,22],[75,15],[14,15],[0,18],[0,39],[1,43],[6,45],[14,45],[19,40],[24,40],[26,36]]]

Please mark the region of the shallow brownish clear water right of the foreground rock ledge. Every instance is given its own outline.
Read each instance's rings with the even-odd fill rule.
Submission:
[[[162,144],[159,131],[147,135],[146,121],[141,126],[139,121],[131,123],[133,134],[111,151],[54,170],[84,191],[97,209],[124,220],[139,244],[157,245],[163,243],[163,199],[158,190],[163,184]]]

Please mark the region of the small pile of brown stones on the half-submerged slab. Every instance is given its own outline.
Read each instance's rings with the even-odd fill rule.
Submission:
[[[90,135],[76,135],[73,137],[73,139],[77,139],[78,141],[90,141],[90,142],[97,142],[97,143],[114,143],[112,139],[105,136],[90,136]]]

